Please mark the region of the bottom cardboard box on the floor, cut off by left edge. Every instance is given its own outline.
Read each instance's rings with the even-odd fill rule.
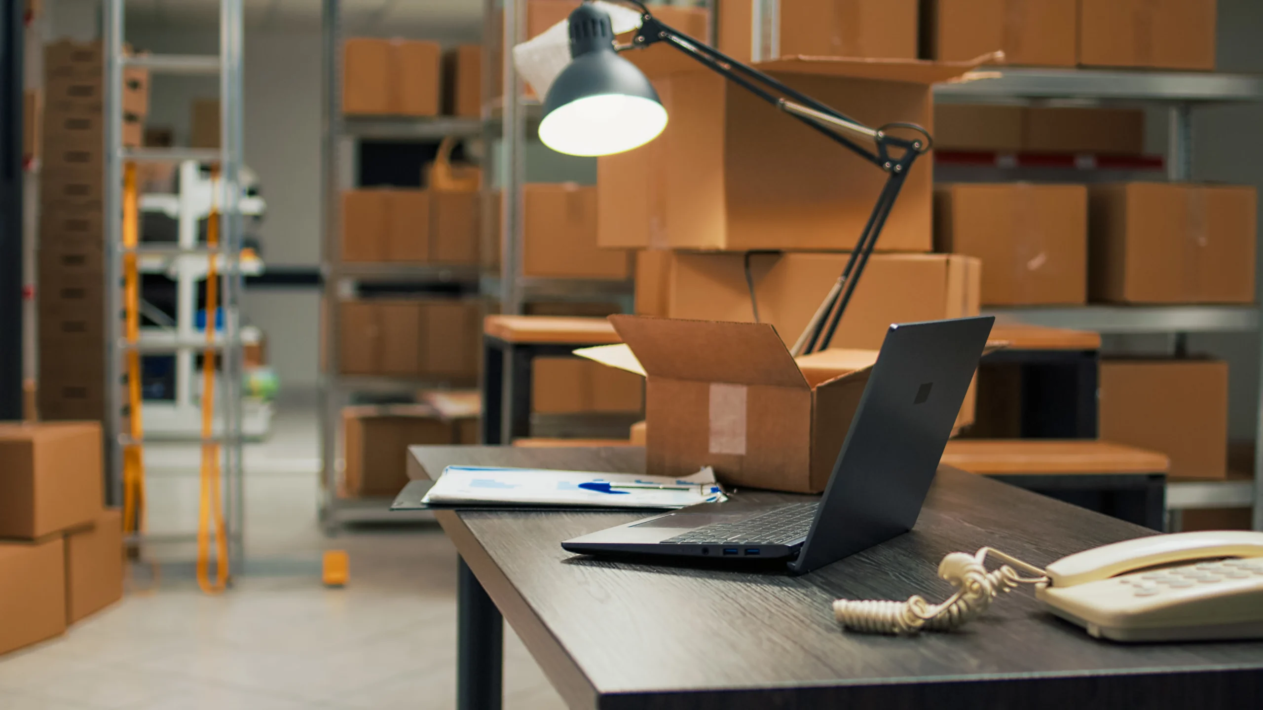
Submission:
[[[0,653],[66,632],[66,553],[61,536],[0,542]]]

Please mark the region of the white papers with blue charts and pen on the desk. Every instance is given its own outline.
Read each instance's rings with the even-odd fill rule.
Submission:
[[[422,502],[437,505],[674,509],[726,499],[710,466],[682,479],[643,474],[447,466]]]

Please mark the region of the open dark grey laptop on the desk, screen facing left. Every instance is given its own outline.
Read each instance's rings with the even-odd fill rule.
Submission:
[[[691,505],[573,539],[595,555],[784,560],[810,572],[912,529],[995,318],[892,325],[825,494]],[[839,432],[841,433],[841,432]]]

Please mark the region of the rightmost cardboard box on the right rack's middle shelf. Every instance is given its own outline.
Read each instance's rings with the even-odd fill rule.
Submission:
[[[1254,187],[1094,184],[1087,205],[1092,301],[1254,303]]]

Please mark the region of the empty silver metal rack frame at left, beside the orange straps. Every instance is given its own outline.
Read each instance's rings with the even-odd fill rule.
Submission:
[[[123,394],[120,373],[129,351],[169,352],[177,356],[181,376],[174,411],[200,418],[200,407],[193,403],[195,354],[205,350],[206,332],[196,328],[193,320],[197,310],[196,282],[206,278],[206,265],[211,258],[221,268],[217,275],[220,284],[220,308],[224,313],[224,326],[212,331],[213,347],[218,350],[221,374],[216,376],[217,390],[213,393],[215,433],[207,440],[201,437],[201,427],[183,427],[182,441],[215,442],[221,447],[220,475],[222,476],[224,524],[229,545],[231,575],[239,574],[245,560],[244,545],[244,451],[242,451],[242,327],[241,292],[244,289],[241,268],[241,164],[242,164],[242,51],[244,21],[241,0],[220,0],[220,51],[212,56],[133,56],[125,52],[124,15],[125,0],[106,0],[102,6],[102,35],[106,64],[106,90],[104,101],[105,115],[105,303],[102,322],[106,323],[106,495],[111,503],[123,502],[124,446],[143,443],[130,437],[130,416],[125,413],[128,402]],[[123,75],[126,67],[144,67],[150,72],[174,75],[217,75],[220,88],[220,148],[125,148],[123,145]],[[186,187],[193,182],[198,163],[218,165],[218,178],[207,184],[205,203],[198,214],[186,206],[179,208],[178,246],[150,250],[141,245],[133,253],[144,255],[157,253],[172,254],[179,267],[178,294],[173,331],[163,328],[141,328],[136,342],[129,342],[120,318],[124,297],[123,263],[129,251],[123,241],[123,177],[128,163],[163,162],[181,163]],[[220,245],[208,249],[198,244],[197,219],[210,211],[211,193],[218,211]],[[187,195],[182,196],[186,202]],[[141,259],[143,260],[143,259]],[[201,262],[201,277],[195,262]],[[215,327],[216,318],[208,318],[208,327]],[[141,406],[144,414],[148,406]],[[148,423],[148,422],[147,422]],[[153,432],[157,433],[157,432]],[[147,437],[149,438],[149,437]],[[159,542],[144,533],[138,534],[141,542]],[[221,561],[222,563],[222,561]]]

